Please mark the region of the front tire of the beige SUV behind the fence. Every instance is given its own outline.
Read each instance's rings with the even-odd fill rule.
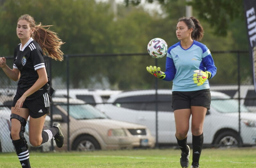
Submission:
[[[74,140],[72,150],[91,151],[100,149],[99,142],[90,135],[83,135]]]

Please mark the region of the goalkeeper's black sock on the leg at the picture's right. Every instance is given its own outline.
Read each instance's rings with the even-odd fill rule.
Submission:
[[[193,162],[197,162],[199,164],[199,159],[202,151],[202,146],[204,143],[204,135],[203,133],[199,136],[192,135],[192,146],[193,146]]]

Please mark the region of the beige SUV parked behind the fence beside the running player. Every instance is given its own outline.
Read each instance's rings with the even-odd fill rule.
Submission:
[[[53,97],[52,118],[59,122],[71,150],[120,149],[155,146],[155,138],[144,125],[116,121],[83,100]],[[69,111],[68,111],[69,109]],[[68,118],[69,114],[69,118]],[[69,121],[69,141],[68,141]]]

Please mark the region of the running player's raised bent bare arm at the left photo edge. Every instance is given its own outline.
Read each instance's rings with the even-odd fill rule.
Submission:
[[[13,81],[20,79],[20,70],[16,68],[9,68],[6,65],[6,59],[4,57],[0,57],[0,67],[3,69],[4,73]]]

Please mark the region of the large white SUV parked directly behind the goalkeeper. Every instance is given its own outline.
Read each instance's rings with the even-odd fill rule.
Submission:
[[[204,144],[237,145],[239,142],[238,100],[230,96],[211,91],[211,109],[207,110],[204,121]],[[158,142],[175,143],[175,121],[171,90],[157,90],[158,102]],[[156,90],[122,92],[110,96],[109,104],[101,110],[109,117],[146,125],[156,136]],[[256,114],[244,106],[241,109],[241,140],[243,144],[256,144]],[[191,124],[191,118],[190,118]],[[189,130],[189,132],[191,132]],[[192,135],[188,133],[188,143]]]

